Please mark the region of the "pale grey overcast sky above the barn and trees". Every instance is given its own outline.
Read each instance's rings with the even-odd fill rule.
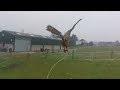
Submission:
[[[87,41],[120,41],[120,11],[0,11],[0,30],[50,36],[52,25],[63,34],[80,18],[72,34]]]

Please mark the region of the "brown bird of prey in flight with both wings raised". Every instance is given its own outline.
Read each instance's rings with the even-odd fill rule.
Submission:
[[[81,21],[81,20],[82,19],[80,19],[79,21]],[[77,23],[79,21],[77,21]],[[51,25],[48,25],[46,30],[51,32],[52,34],[60,36],[60,38],[62,39],[61,44],[64,48],[64,52],[66,52],[66,51],[68,51],[68,45],[69,45],[69,41],[70,41],[71,31],[75,28],[77,23],[75,23],[74,26],[70,30],[68,30],[64,35]]]

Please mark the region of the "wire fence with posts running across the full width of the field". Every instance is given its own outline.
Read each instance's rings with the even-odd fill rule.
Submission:
[[[36,52],[36,53],[24,53],[23,55],[20,55],[17,53],[13,53],[10,57],[9,55],[7,55],[6,53],[1,53],[0,55],[0,63],[2,62],[11,62],[13,59],[19,58],[21,59],[21,62],[24,62],[23,57],[26,58],[27,60],[29,60],[32,56],[36,57],[42,57],[44,59],[49,59],[52,56],[54,57],[62,57],[64,56],[64,52],[61,51],[56,51],[54,53],[51,53],[49,51],[45,51],[45,52]],[[16,55],[16,56],[15,56]],[[15,57],[14,57],[15,56]],[[23,57],[22,57],[23,56]],[[70,49],[68,52],[68,56],[66,58],[66,60],[87,60],[87,61],[94,61],[94,60],[120,60],[120,51],[118,50],[113,50],[113,49],[109,49],[107,50],[103,50],[103,51],[82,51],[81,49]],[[17,62],[17,60],[15,60],[15,62]]]

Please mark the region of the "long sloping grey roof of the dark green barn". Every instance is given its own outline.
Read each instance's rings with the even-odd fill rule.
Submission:
[[[5,32],[8,32],[14,36],[24,36],[24,37],[31,37],[31,38],[46,38],[46,39],[55,39],[55,40],[61,40],[61,39],[56,39],[52,38],[49,36],[42,36],[42,35],[35,35],[35,34],[29,34],[29,33],[22,33],[22,32],[16,32],[16,31],[8,31],[8,30],[3,30]]]

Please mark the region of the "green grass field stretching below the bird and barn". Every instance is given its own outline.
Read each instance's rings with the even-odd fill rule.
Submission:
[[[51,71],[49,79],[120,78],[120,47],[81,47],[72,50]],[[27,54],[0,53],[0,79],[46,79],[63,52]]]

